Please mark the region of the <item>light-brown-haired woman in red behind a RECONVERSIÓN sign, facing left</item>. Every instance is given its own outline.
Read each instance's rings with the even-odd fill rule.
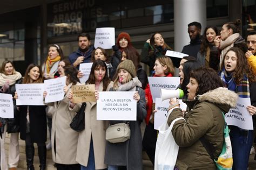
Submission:
[[[154,77],[172,77],[174,67],[172,60],[167,56],[159,56],[154,62]],[[145,89],[147,115],[145,118],[146,129],[143,137],[143,148],[149,155],[149,158],[154,165],[154,153],[156,151],[157,130],[154,130],[154,103],[150,91],[150,85],[147,84]]]

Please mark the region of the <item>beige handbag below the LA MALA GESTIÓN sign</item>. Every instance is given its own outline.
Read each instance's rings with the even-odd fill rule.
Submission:
[[[131,130],[129,122],[110,125],[106,129],[106,140],[110,143],[120,143],[130,139]]]

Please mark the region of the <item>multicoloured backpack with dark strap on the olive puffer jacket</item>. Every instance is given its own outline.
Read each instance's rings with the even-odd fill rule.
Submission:
[[[223,117],[224,113],[222,112]],[[225,120],[225,117],[224,117]],[[206,148],[206,151],[208,154],[210,154],[212,160],[215,162],[215,165],[217,166],[217,169],[221,170],[231,170],[232,165],[233,165],[233,157],[232,157],[232,146],[231,146],[231,140],[230,140],[230,130],[228,129],[227,123],[225,121],[225,126],[224,126],[224,142],[223,142],[223,147],[221,150],[221,153],[218,157],[218,159],[214,159],[214,147],[213,145],[206,140],[204,137],[200,138],[201,143],[203,146]]]

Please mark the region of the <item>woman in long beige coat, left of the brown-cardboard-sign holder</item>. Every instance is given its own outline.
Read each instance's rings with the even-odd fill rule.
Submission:
[[[51,144],[54,146],[52,149],[52,160],[56,162],[57,169],[79,170],[80,165],[76,161],[79,132],[72,130],[69,124],[81,104],[76,104],[72,111],[70,111],[68,94],[72,86],[79,85],[80,83],[75,67],[64,66],[63,69],[66,76],[65,96],[62,101],[50,103],[53,104],[55,109],[55,113],[52,116],[51,130]]]

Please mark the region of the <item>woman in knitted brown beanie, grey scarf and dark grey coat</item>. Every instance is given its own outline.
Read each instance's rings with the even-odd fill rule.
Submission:
[[[134,91],[134,100],[137,101],[137,121],[130,121],[130,139],[122,143],[106,143],[105,164],[108,169],[118,169],[126,166],[130,169],[143,169],[142,166],[142,133],[140,122],[146,116],[146,104],[144,90],[141,88],[136,69],[131,60],[122,61],[117,67],[118,77],[114,81],[110,91]],[[127,123],[127,121],[110,121],[110,125]]]

